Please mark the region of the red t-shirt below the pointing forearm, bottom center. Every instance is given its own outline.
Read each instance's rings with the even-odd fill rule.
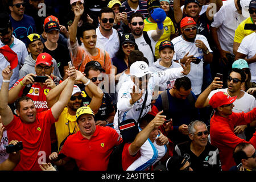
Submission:
[[[137,154],[134,156],[131,156],[129,153],[129,146],[131,143],[125,143],[125,146],[123,147],[122,152],[122,167],[123,171],[126,171],[126,169],[133,164],[135,160],[137,160],[141,156],[141,152],[138,151]]]

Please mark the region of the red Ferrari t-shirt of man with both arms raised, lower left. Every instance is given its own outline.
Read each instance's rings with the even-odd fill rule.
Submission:
[[[13,121],[5,126],[9,141],[23,142],[23,150],[20,151],[20,162],[14,168],[15,171],[42,171],[40,164],[48,162],[51,154],[50,129],[56,122],[52,110],[36,114],[36,121],[23,123],[14,115]]]

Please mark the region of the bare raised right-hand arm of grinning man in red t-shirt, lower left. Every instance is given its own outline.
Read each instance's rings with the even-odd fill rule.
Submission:
[[[68,72],[68,82],[67,85],[65,85],[65,88],[60,94],[59,100],[56,102],[55,105],[52,106],[52,115],[55,119],[59,118],[60,113],[63,111],[64,107],[68,104],[68,101],[70,100],[73,87],[76,80],[76,69],[75,67],[72,67],[71,70]]]

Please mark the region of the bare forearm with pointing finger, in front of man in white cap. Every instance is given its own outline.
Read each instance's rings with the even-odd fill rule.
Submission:
[[[133,143],[129,146],[129,154],[135,155],[140,150],[141,146],[146,142],[148,137],[150,137],[150,133],[155,128],[158,128],[160,125],[163,125],[166,116],[161,115],[163,111],[160,111],[156,114],[155,118],[148,123],[148,125],[137,134],[136,138],[134,139]]]

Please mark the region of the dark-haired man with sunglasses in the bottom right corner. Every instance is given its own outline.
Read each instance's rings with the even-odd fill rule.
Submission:
[[[255,148],[250,143],[240,143],[233,152],[233,158],[237,164],[229,171],[256,171]]]

